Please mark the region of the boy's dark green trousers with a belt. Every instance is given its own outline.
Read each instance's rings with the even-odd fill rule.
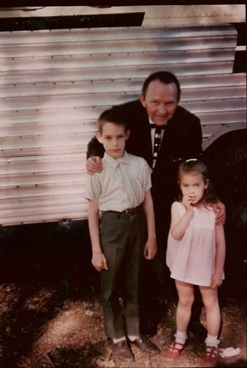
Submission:
[[[104,212],[100,223],[104,330],[109,338],[139,335],[139,273],[145,242],[145,214]],[[123,300],[121,303],[119,298]]]

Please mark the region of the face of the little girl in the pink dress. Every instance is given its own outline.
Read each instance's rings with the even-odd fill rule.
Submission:
[[[189,202],[196,206],[203,199],[204,190],[207,188],[207,183],[203,180],[203,174],[198,171],[192,173],[183,173],[179,181],[183,197],[187,196]]]

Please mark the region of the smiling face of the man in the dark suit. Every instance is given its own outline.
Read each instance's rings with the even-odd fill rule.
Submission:
[[[147,110],[150,119],[156,125],[166,125],[178,105],[178,91],[175,83],[164,85],[159,80],[152,80],[146,95],[140,94],[140,102]]]

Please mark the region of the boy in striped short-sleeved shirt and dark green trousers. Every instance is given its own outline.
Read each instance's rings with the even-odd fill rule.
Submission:
[[[153,259],[157,245],[151,169],[143,158],[125,151],[129,135],[121,111],[109,109],[100,115],[96,137],[105,149],[103,170],[88,176],[85,189],[85,198],[89,200],[92,265],[102,274],[104,330],[112,341],[114,356],[123,362],[134,361],[130,344],[150,355],[160,352],[139,332],[141,254]],[[102,211],[100,228],[99,211]],[[121,288],[123,314],[119,305]]]

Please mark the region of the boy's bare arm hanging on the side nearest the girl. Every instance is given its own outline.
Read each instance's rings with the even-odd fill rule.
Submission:
[[[147,219],[147,242],[144,248],[144,257],[146,259],[153,259],[157,254],[157,244],[155,233],[155,211],[150,190],[145,192],[143,208]]]

